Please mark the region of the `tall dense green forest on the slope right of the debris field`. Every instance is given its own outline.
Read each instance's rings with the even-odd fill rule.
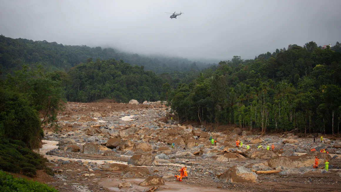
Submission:
[[[333,51],[337,50],[339,52]],[[309,42],[254,60],[222,61],[190,84],[163,86],[180,121],[237,124],[265,131],[339,133],[340,44],[333,50]],[[166,94],[167,92],[167,94]]]

